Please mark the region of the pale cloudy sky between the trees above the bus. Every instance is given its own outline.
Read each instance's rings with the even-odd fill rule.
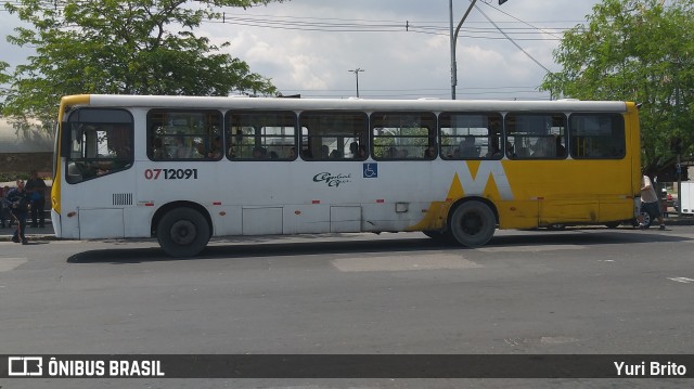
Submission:
[[[452,2],[458,25],[470,1]],[[552,51],[599,2],[477,1],[455,46],[457,99],[550,99],[538,87],[548,70],[561,69]],[[362,99],[451,99],[449,0],[291,0],[220,11],[223,23],[206,22],[195,33],[230,42],[226,52],[284,95],[354,98],[358,76]],[[17,25],[0,11],[0,35]],[[0,53],[14,66],[31,52],[0,39]]]

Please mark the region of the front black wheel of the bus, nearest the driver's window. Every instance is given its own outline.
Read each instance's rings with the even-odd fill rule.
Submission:
[[[172,209],[159,220],[156,238],[167,255],[194,257],[209,242],[209,224],[204,216],[191,208]]]

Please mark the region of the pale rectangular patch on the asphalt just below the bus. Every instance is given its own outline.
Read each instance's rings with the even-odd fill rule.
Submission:
[[[478,269],[481,264],[464,259],[460,255],[416,255],[412,257],[339,258],[333,265],[342,272],[393,272],[439,269]]]

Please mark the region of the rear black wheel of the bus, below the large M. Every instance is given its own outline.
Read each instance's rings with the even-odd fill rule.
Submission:
[[[485,204],[471,200],[461,204],[450,218],[449,231],[453,239],[466,247],[484,246],[497,230],[494,212]]]

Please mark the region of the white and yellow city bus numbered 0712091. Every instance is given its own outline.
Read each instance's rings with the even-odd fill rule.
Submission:
[[[70,95],[55,137],[57,237],[618,225],[640,195],[630,102]]]

